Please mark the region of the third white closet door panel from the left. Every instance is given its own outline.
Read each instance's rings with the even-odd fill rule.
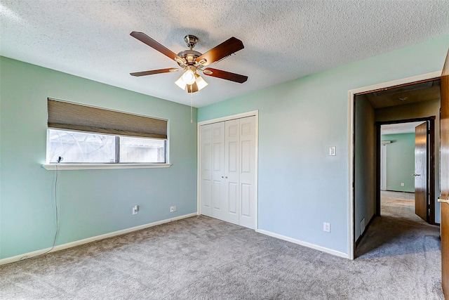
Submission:
[[[239,177],[240,177],[240,120],[225,122],[225,182],[223,205],[226,207],[225,221],[239,224]]]

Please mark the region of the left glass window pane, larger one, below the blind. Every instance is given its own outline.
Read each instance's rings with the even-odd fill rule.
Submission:
[[[48,163],[115,162],[115,136],[48,129]]]

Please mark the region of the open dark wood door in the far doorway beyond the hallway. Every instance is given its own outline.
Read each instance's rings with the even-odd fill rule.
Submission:
[[[429,162],[428,126],[424,122],[415,127],[415,214],[426,222],[429,222],[427,169]]]

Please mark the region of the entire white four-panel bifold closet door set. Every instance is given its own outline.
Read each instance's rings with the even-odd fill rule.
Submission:
[[[201,126],[201,214],[255,228],[255,117]]]

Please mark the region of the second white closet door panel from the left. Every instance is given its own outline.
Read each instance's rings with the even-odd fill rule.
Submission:
[[[225,123],[212,124],[212,216],[225,220]]]

